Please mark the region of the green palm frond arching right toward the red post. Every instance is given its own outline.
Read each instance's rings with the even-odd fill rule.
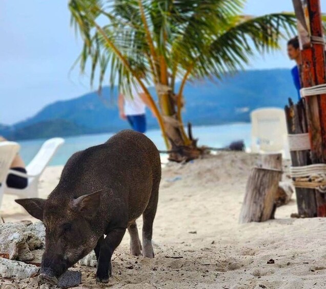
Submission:
[[[281,39],[295,34],[295,18],[288,14],[270,14],[261,17],[237,16],[230,26],[216,35],[211,43],[203,43],[201,54],[194,61],[193,74],[221,77],[243,69],[258,52],[268,53],[280,49]]]

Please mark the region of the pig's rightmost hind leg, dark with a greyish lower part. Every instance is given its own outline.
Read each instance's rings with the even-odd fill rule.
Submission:
[[[152,193],[148,205],[142,213],[142,256],[148,258],[154,258],[154,251],[152,246],[153,235],[153,222],[156,214],[157,202],[158,202],[158,187],[159,182],[153,184]]]

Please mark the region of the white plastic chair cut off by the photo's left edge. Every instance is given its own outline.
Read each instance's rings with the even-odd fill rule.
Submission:
[[[0,142],[0,207],[4,196],[8,171],[19,148],[20,146],[15,142]]]

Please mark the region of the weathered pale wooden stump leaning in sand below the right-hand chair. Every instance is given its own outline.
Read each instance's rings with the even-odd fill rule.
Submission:
[[[282,155],[266,154],[262,167],[254,168],[249,176],[239,223],[261,222],[274,218],[275,196],[282,176]]]

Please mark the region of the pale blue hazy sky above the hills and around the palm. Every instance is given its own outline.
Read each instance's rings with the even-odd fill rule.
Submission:
[[[326,1],[321,0],[326,11]],[[91,90],[78,69],[69,73],[81,47],[70,28],[67,0],[0,1],[0,123],[34,115],[46,104]],[[291,11],[292,0],[248,0],[246,14]],[[257,56],[251,69],[291,68],[282,52]],[[289,83],[291,85],[291,83]]]

